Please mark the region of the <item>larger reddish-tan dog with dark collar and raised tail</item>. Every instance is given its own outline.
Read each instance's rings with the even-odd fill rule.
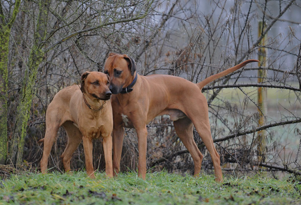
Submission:
[[[120,94],[122,88],[133,82],[136,73],[134,61],[127,55],[110,54],[104,72],[110,76],[113,107],[113,169],[119,172],[123,127],[135,128],[138,136],[138,175],[145,179],[146,173],[146,124],[158,115],[168,114],[174,121],[176,133],[189,150],[195,164],[194,174],[200,173],[203,155],[193,139],[195,126],[213,161],[217,181],[222,181],[220,156],[211,137],[208,105],[201,89],[208,83],[221,78],[250,62],[245,61],[224,72],[210,76],[194,84],[184,78],[170,75],[139,76],[132,92]]]

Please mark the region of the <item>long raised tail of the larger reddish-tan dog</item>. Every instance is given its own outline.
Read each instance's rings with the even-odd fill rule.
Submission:
[[[197,83],[197,86],[199,86],[199,88],[202,90],[205,87],[205,85],[211,83],[212,81],[215,81],[216,79],[219,79],[219,78],[224,77],[224,76],[226,76],[226,75],[228,75],[230,73],[233,73],[234,71],[236,71],[236,70],[244,67],[248,63],[252,63],[252,62],[259,62],[259,61],[258,60],[254,60],[254,59],[246,60],[246,61],[244,61],[244,62],[242,62],[242,63],[240,63],[240,64],[238,64],[238,65],[236,65],[236,66],[234,66],[232,68],[229,68],[229,69],[227,69],[227,70],[225,70],[223,72],[220,72],[220,73],[217,73],[215,75],[209,76],[205,80]]]

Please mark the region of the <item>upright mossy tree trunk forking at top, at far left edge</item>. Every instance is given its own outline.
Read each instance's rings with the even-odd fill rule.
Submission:
[[[21,0],[15,2],[13,15],[6,22],[0,5],[0,164],[6,164],[8,153],[7,114],[8,114],[8,56],[12,25],[19,13]]]

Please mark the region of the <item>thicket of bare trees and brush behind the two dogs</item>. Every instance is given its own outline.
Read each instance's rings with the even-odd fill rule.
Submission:
[[[140,75],[169,74],[199,82],[246,59],[258,59],[203,89],[211,130],[224,170],[257,165],[299,173],[300,1],[4,1],[0,8],[0,163],[39,167],[45,112],[62,88],[86,71],[103,71],[110,52],[135,59]],[[258,23],[266,27],[258,30]],[[258,35],[259,34],[259,35]],[[267,34],[267,38],[264,38]],[[261,65],[265,65],[264,67]],[[266,78],[258,83],[258,70]],[[267,89],[264,124],[258,124],[257,87]],[[234,89],[235,88],[235,89]],[[258,131],[265,130],[263,159]],[[193,162],[167,116],[148,125],[148,168],[193,170]],[[135,132],[125,131],[122,169],[136,168]],[[205,153],[203,167],[212,169]],[[50,166],[61,170],[66,145],[58,133]],[[104,168],[101,141],[94,163]],[[259,160],[260,159],[260,160]],[[83,148],[72,159],[82,168]],[[26,163],[24,163],[26,162]]]

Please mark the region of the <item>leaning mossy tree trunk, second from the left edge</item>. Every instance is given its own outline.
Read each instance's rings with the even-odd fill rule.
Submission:
[[[39,1],[39,16],[35,31],[34,45],[31,48],[27,69],[21,89],[21,98],[17,107],[16,125],[13,135],[11,160],[14,164],[22,164],[24,149],[24,139],[26,136],[27,122],[30,117],[30,108],[35,94],[34,86],[37,78],[39,65],[42,63],[45,52],[47,33],[47,20],[49,13],[50,0]]]

